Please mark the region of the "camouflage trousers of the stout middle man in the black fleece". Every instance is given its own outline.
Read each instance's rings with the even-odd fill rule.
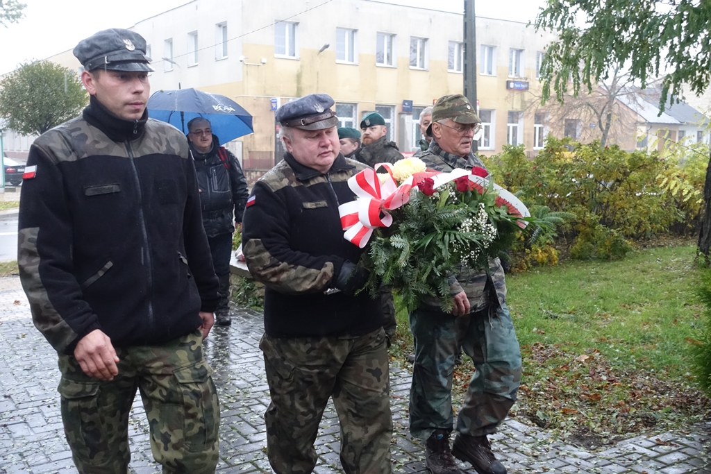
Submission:
[[[314,441],[329,397],[341,427],[346,474],[387,474],[390,468],[390,379],[385,333],[272,338],[260,342],[272,402],[264,421],[267,454],[277,474],[311,473]]]

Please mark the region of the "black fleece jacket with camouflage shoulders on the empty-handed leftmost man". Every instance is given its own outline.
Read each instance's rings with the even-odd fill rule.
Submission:
[[[92,97],[30,149],[20,279],[60,353],[95,329],[117,347],[161,344],[193,332],[219,301],[188,141],[145,117],[120,119]]]

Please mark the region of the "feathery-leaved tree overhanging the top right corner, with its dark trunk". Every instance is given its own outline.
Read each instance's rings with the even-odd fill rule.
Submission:
[[[661,110],[683,85],[700,95],[711,82],[708,0],[547,0],[535,28],[558,34],[541,66],[544,102],[552,92],[562,102],[571,85],[592,91],[619,68],[642,88],[661,78]],[[704,198],[699,251],[711,262],[711,159]]]

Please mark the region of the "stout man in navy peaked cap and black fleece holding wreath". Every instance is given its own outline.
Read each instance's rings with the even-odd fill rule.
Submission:
[[[276,119],[288,153],[252,188],[242,249],[264,283],[260,348],[272,402],[264,414],[277,474],[311,473],[314,441],[329,397],[341,421],[346,473],[390,473],[392,417],[380,302],[343,239],[338,205],[355,194],[348,178],[366,168],[339,153],[338,118],[326,94],[282,105]]]

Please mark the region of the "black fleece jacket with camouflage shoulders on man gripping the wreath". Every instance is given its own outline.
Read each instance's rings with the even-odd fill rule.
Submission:
[[[380,300],[324,294],[343,262],[366,249],[343,238],[338,205],[355,198],[348,178],[365,166],[338,154],[328,173],[290,153],[252,188],[242,220],[242,251],[264,291],[264,330],[272,337],[368,333],[383,325]]]

